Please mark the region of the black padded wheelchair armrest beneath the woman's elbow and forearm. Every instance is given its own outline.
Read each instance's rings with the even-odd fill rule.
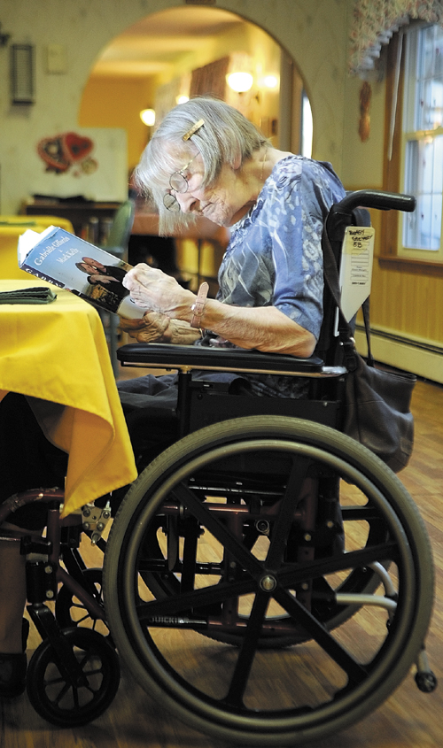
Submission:
[[[122,366],[147,366],[179,371],[227,371],[284,374],[286,376],[340,376],[343,366],[323,366],[322,359],[298,359],[282,353],[262,353],[237,348],[209,348],[202,345],[169,343],[128,343],[117,351]]]

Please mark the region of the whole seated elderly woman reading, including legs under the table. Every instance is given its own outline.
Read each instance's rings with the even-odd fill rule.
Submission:
[[[142,320],[121,320],[130,335],[141,342],[232,345],[299,357],[315,351],[323,318],[323,221],[330,205],[345,195],[329,164],[277,150],[232,107],[196,98],[167,114],[144,151],[136,181],[158,208],[160,230],[171,232],[206,216],[229,227],[231,238],[215,299],[206,297],[206,284],[196,296],[158,269],[142,264],[131,270],[123,283],[146,313]],[[236,374],[205,374],[210,376],[228,376],[233,389],[238,383]],[[305,392],[304,382],[291,377],[250,374],[241,382],[259,397]],[[118,386],[126,413],[151,403],[175,405],[174,374]],[[35,420],[30,428],[32,419],[24,398],[4,398],[1,501],[19,490],[63,481],[66,455],[45,442]],[[160,422],[150,429],[152,454],[176,438],[174,429]],[[22,453],[27,470],[14,467],[14,454]],[[14,515],[11,521],[39,528],[43,519]],[[0,543],[0,696],[12,697],[25,688],[27,630],[21,626],[23,559],[7,546]]]

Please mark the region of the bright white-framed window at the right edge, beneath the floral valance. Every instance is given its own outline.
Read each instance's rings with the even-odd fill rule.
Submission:
[[[417,202],[400,218],[397,255],[443,262],[443,28],[411,28],[405,42],[400,191]]]

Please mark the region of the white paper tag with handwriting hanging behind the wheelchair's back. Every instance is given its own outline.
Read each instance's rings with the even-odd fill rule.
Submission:
[[[349,322],[369,297],[374,257],[373,227],[346,227],[341,253],[339,284],[341,309]]]

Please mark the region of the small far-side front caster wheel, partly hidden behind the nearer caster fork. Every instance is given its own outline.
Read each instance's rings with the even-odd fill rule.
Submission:
[[[84,581],[95,598],[98,605],[103,608],[105,613],[105,604],[103,602],[102,581],[103,570],[100,568],[89,568],[82,572]],[[109,637],[108,641],[112,644],[109,628],[106,622],[92,615],[88,608],[77,598],[73,590],[70,590],[66,584],[58,590],[55,617],[60,628],[72,628],[73,626],[82,626],[97,631],[102,636]]]

